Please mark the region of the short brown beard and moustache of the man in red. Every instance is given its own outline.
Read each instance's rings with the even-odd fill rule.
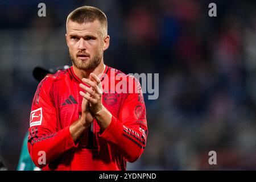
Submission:
[[[77,52],[78,53],[84,53],[82,51]],[[69,57],[72,60],[72,63],[74,67],[78,69],[94,69],[96,68],[100,63],[102,59],[103,54],[98,51],[95,56],[89,58],[88,60],[80,60],[78,57],[74,57],[71,52],[69,51]]]

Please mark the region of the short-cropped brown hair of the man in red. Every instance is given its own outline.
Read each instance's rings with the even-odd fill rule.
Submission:
[[[76,23],[91,23],[94,20],[98,20],[102,27],[105,29],[106,34],[108,34],[108,19],[106,18],[105,13],[93,6],[81,6],[75,10],[73,10],[67,18],[66,27],[68,25],[68,21],[72,20],[72,22]]]

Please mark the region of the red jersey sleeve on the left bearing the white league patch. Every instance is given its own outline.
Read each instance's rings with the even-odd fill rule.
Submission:
[[[57,131],[53,81],[46,77],[38,85],[30,114],[27,147],[36,166],[42,168],[63,152],[75,147],[69,127]]]

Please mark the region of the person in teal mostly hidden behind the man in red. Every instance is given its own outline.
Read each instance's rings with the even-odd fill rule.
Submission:
[[[53,75],[59,70],[64,70],[69,68],[68,65],[64,65],[63,67],[57,67],[55,69],[44,69],[42,67],[35,67],[33,69],[33,76],[37,81],[42,81],[44,77]],[[32,162],[30,154],[27,150],[27,137],[28,132],[26,133],[23,143],[22,143],[22,150],[19,156],[19,163],[17,166],[17,171],[39,171],[40,168],[36,167],[35,164]]]

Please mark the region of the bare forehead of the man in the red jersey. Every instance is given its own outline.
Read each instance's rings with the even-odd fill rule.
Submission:
[[[102,34],[102,27],[98,20],[88,23],[77,23],[69,20],[67,23],[67,34]]]

